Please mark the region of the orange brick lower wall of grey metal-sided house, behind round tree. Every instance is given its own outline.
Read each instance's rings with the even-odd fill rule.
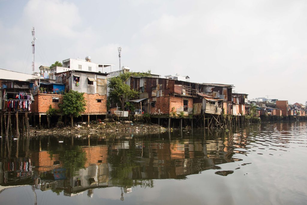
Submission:
[[[58,97],[59,102],[63,100],[63,95],[57,94],[44,94],[40,93],[34,96],[34,102],[31,110],[34,113],[46,113],[51,104],[52,108],[59,109],[59,102],[52,102],[52,97]],[[107,113],[107,96],[99,94],[87,94],[84,93],[86,101],[84,114],[106,114]],[[101,102],[97,102],[97,99]]]

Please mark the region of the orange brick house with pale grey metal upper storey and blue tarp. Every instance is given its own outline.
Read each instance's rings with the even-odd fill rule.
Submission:
[[[34,95],[34,109],[35,114],[45,115],[49,109],[58,109],[58,104],[63,99],[63,94],[53,93],[55,87],[62,85],[57,90],[58,93],[75,90],[84,93],[86,100],[85,112],[83,115],[106,115],[107,114],[107,82],[106,73],[69,70],[62,73],[54,74],[56,76],[56,83],[41,83],[40,87],[47,87],[48,93],[38,93]]]

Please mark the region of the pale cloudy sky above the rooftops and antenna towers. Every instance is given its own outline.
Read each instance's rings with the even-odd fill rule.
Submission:
[[[37,72],[86,56],[117,70],[120,46],[132,71],[305,104],[306,10],[305,0],[0,0],[0,68],[32,73],[34,26]]]

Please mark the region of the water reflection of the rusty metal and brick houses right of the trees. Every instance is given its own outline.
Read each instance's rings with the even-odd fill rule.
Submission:
[[[221,140],[216,141],[175,141],[170,143],[143,143],[136,145],[139,155],[135,163],[131,179],[167,179],[182,178],[190,174],[198,174],[207,169],[215,169],[216,165],[233,162],[233,153],[224,151]],[[116,146],[112,146],[112,154]],[[130,145],[131,149],[131,145]]]

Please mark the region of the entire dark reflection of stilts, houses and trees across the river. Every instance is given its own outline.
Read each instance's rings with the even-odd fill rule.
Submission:
[[[302,126],[305,124],[302,124]],[[303,126],[302,129],[304,129]],[[241,161],[240,156],[261,149],[283,150],[293,140],[300,141],[301,129],[288,124],[262,124],[231,130],[183,130],[159,135],[113,133],[91,136],[39,136],[25,149],[16,150],[16,142],[3,142],[1,153],[10,145],[10,158],[0,162],[0,185],[31,185],[34,190],[52,190],[60,195],[86,193],[93,197],[95,188],[153,188],[154,179],[186,179],[204,170],[220,169],[220,164]],[[63,141],[63,142],[62,142]],[[18,158],[13,153],[18,152]],[[2,155],[3,156],[3,155]],[[250,163],[243,163],[242,166]],[[239,169],[239,168],[236,168]],[[219,170],[227,176],[235,170]]]

